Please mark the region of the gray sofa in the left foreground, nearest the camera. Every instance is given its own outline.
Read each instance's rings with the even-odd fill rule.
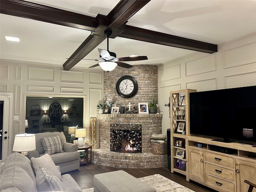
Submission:
[[[1,164],[0,170],[0,192],[38,192],[40,189],[42,191],[42,186],[38,185],[31,162],[26,156],[18,152],[10,154],[6,163]],[[82,192],[70,174],[63,174],[61,177],[66,192]],[[48,189],[46,183],[43,187]]]

